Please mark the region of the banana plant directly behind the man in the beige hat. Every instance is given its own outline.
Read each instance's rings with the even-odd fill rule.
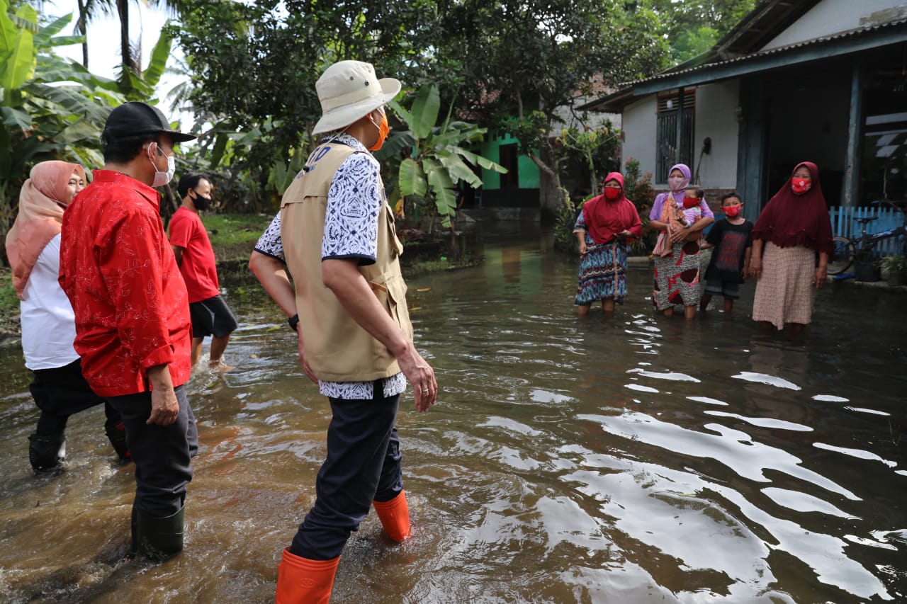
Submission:
[[[423,212],[434,209],[444,227],[450,228],[456,214],[457,181],[481,187],[482,179],[473,166],[500,173],[507,169],[465,148],[482,141],[487,129],[451,121],[450,112],[437,124],[441,99],[435,84],[420,88],[409,110],[398,102],[389,104],[407,126],[404,131],[395,130],[375,153],[391,165],[390,199],[413,199]]]

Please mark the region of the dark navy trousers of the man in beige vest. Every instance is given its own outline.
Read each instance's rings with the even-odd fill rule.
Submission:
[[[328,398],[327,459],[318,471],[315,506],[289,547],[308,560],[340,555],[372,501],[387,502],[403,491],[400,441],[395,428],[400,396],[382,396],[375,381],[371,400]]]

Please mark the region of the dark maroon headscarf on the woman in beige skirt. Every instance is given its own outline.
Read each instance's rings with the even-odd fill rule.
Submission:
[[[812,184],[803,195],[795,195],[791,180],[801,166],[809,170]],[[753,239],[771,241],[779,248],[805,246],[818,252],[834,253],[832,219],[819,184],[819,169],[812,161],[798,163],[784,186],[768,200],[756,220]]]

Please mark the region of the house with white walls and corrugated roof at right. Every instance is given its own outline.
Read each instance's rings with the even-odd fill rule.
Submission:
[[[830,206],[907,201],[907,1],[763,0],[706,54],[583,108],[621,114],[623,159],[657,186],[687,163],[750,219],[799,161]]]

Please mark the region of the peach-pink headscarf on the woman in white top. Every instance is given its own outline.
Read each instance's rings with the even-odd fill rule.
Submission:
[[[19,213],[6,233],[6,258],[13,268],[13,287],[19,299],[44,246],[60,234],[73,172],[85,180],[85,170],[77,163],[42,161],[34,165],[19,192]]]

